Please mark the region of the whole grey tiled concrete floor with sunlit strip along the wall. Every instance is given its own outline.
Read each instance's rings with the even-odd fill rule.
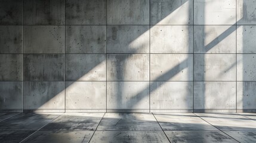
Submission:
[[[256,113],[0,113],[0,142],[256,142]]]

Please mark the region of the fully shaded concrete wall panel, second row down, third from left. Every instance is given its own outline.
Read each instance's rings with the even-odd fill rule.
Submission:
[[[106,53],[106,26],[66,26],[66,53]]]

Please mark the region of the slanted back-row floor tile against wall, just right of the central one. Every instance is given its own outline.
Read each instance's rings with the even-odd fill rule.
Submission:
[[[154,113],[163,130],[218,130],[193,113]]]

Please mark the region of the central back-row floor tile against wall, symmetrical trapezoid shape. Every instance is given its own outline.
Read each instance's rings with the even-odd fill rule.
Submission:
[[[97,130],[162,130],[150,113],[106,113]]]

